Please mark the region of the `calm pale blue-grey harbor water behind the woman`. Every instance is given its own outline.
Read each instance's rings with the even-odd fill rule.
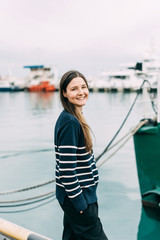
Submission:
[[[83,113],[94,133],[95,156],[115,135],[135,97],[136,93],[90,93]],[[117,140],[143,118],[141,99],[140,95]],[[53,132],[61,111],[58,92],[0,93],[0,192],[54,179]],[[106,153],[102,160],[109,155]],[[108,238],[136,240],[141,231],[142,206],[133,138],[99,168],[99,174],[99,215]],[[30,198],[54,189],[52,183],[0,195],[0,201]],[[0,217],[54,240],[61,239],[63,213],[56,200],[15,207],[0,204]]]

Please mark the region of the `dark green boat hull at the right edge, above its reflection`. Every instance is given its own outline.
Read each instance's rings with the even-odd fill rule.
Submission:
[[[143,126],[134,135],[143,205],[160,207],[160,125]]]

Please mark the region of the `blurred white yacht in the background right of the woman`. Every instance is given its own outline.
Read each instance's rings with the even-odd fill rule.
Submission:
[[[137,91],[146,79],[151,87],[156,89],[159,76],[160,58],[152,54],[146,56],[141,62],[122,64],[120,70],[102,72],[101,77],[93,81],[91,86],[108,91]]]

